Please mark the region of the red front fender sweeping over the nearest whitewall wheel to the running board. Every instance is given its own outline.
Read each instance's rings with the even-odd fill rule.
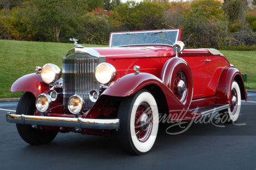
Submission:
[[[157,85],[163,91],[163,97],[166,98],[171,120],[191,120],[201,116],[201,114],[196,114],[189,111],[189,109],[185,107],[185,105],[183,105],[179,99],[177,99],[174,93],[166,86],[166,84],[162,82],[162,80],[157,78],[155,75],[148,73],[134,73],[122,76],[112,83],[102,93],[100,98],[104,97],[105,95],[117,97],[130,96],[150,84]],[[98,101],[100,101],[100,98]],[[96,106],[96,104],[93,105],[93,108],[94,106]]]

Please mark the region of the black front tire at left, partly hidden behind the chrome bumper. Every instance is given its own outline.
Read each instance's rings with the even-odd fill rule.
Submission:
[[[16,114],[34,115],[35,96],[25,92],[20,98],[16,108]],[[22,139],[30,145],[43,145],[51,142],[57,135],[56,131],[46,131],[32,128],[31,125],[16,124],[18,133]]]

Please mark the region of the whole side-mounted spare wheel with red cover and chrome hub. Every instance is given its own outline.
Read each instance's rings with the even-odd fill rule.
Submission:
[[[164,64],[161,79],[185,107],[189,108],[193,95],[193,77],[183,58],[171,58]]]

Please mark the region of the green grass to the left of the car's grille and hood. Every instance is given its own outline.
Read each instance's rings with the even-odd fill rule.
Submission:
[[[20,97],[22,92],[9,92],[11,84],[23,75],[35,73],[35,66],[42,67],[46,63],[54,63],[62,69],[62,58],[74,47],[72,42],[0,40],[0,99]]]

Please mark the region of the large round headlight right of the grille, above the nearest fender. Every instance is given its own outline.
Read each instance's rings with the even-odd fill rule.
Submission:
[[[115,74],[115,67],[110,65],[110,63],[100,63],[100,65],[96,67],[96,79],[102,84],[110,83],[115,78]]]

